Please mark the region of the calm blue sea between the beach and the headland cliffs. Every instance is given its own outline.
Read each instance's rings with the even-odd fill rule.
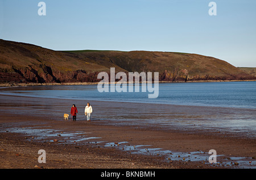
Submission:
[[[89,101],[256,108],[255,81],[160,83],[159,96],[155,99],[148,99],[148,94],[152,94],[148,92],[100,93],[97,85],[15,87],[0,89],[0,94]]]

